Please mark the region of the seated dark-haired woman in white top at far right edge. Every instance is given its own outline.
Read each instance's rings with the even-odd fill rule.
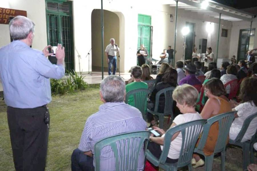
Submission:
[[[229,138],[236,139],[238,133],[240,132],[244,120],[257,112],[257,78],[246,78],[242,81],[239,93],[239,99],[241,103],[237,103],[232,100],[231,104],[234,109],[232,111],[238,111],[235,115],[235,119],[230,127]],[[244,134],[241,142],[250,140],[255,134],[257,129],[257,117],[253,119]]]

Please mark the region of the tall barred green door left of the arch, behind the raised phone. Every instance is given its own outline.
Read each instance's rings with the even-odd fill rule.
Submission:
[[[72,4],[70,1],[46,0],[47,43],[65,47],[66,70],[74,70]],[[56,58],[49,60],[56,64]]]

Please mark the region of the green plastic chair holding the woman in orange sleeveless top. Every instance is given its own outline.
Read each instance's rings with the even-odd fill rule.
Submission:
[[[202,137],[200,139],[198,146],[194,149],[194,152],[202,154],[205,157],[205,166],[204,166],[205,171],[212,170],[212,162],[213,162],[214,154],[218,152],[221,152],[221,170],[222,171],[225,170],[226,140],[227,140],[235,113],[236,111],[233,111],[233,112],[223,113],[223,114],[211,117],[207,120],[207,123],[204,124]],[[203,152],[203,148],[207,140],[210,127],[215,122],[219,123],[219,134],[218,134],[217,143],[215,145],[214,152],[212,153],[212,155],[205,156]]]

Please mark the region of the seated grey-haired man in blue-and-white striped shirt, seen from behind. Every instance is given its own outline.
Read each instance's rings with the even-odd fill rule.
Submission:
[[[94,146],[99,140],[121,133],[146,130],[147,125],[141,112],[124,103],[125,92],[122,78],[111,75],[102,80],[100,96],[104,104],[86,121],[79,148],[71,156],[72,171],[94,170]],[[101,150],[100,160],[101,170],[115,170],[115,158],[110,146]],[[144,153],[141,149],[138,170],[143,168]]]

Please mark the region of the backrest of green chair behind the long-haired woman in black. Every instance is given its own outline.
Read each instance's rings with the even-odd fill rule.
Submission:
[[[165,97],[164,115],[173,114],[172,93],[173,93],[174,89],[175,89],[175,87],[167,87],[167,88],[161,89],[160,91],[158,91],[156,93],[155,107],[154,107],[155,112],[158,111],[160,95],[164,93],[164,97]]]

